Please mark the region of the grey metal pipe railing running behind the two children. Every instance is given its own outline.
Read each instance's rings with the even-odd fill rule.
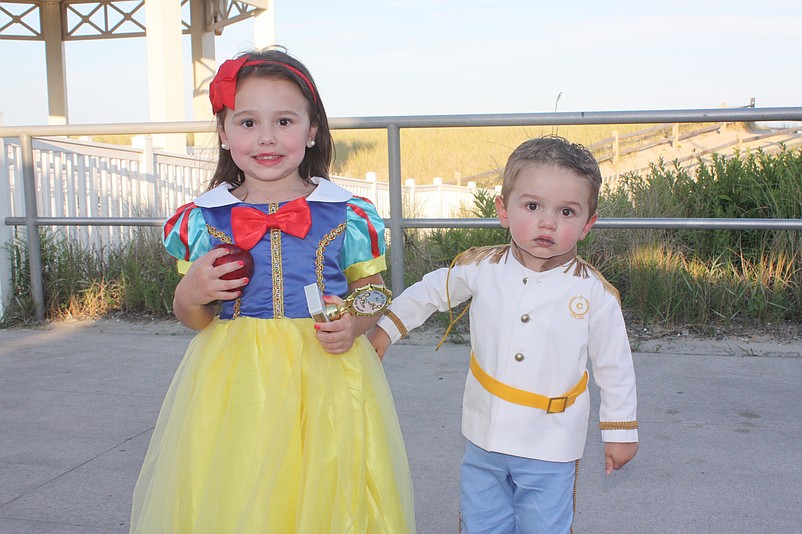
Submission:
[[[704,122],[771,122],[802,121],[802,107],[689,109],[662,111],[597,111],[515,113],[494,115],[429,115],[396,117],[333,118],[332,129],[387,131],[390,217],[386,221],[390,230],[391,285],[395,293],[404,287],[403,231],[405,228],[495,228],[495,219],[411,219],[403,216],[401,180],[401,129],[450,128],[497,126],[559,126],[594,124],[652,124],[652,123],[704,123]],[[86,124],[64,126],[24,126],[0,128],[0,137],[17,137],[22,146],[22,176],[25,190],[25,216],[5,217],[7,226],[25,226],[28,236],[28,253],[31,271],[31,291],[36,319],[44,321],[44,286],[42,280],[40,226],[160,226],[161,218],[88,218],[39,217],[36,206],[36,183],[33,165],[34,137],[108,135],[108,134],[172,134],[204,133],[214,131],[208,121],[175,123]],[[727,230],[802,230],[799,219],[599,219],[597,229],[727,229]]]

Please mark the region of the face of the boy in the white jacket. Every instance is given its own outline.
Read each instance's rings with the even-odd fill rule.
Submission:
[[[509,228],[518,260],[541,271],[550,258],[574,248],[596,222],[590,213],[590,185],[574,171],[529,165],[518,172],[507,205],[496,198],[498,218]]]

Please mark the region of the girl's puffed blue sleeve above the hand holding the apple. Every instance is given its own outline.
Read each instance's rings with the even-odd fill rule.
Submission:
[[[211,249],[203,211],[191,202],[178,208],[164,223],[162,241],[178,260],[178,271],[186,273],[193,261]]]

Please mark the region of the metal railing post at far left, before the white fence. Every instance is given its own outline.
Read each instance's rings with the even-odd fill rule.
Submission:
[[[33,297],[36,321],[45,321],[45,286],[42,280],[42,244],[39,241],[39,225],[36,221],[36,173],[33,168],[33,138],[20,134],[22,152],[22,181],[25,184],[25,229],[28,237],[28,261],[31,270],[31,296]]]

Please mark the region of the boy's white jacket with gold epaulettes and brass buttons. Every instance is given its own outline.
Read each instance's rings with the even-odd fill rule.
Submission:
[[[502,255],[503,249],[466,251],[450,273],[427,274],[390,310],[412,329],[435,310],[447,311],[449,296],[452,307],[472,298],[471,350],[481,367],[508,386],[547,397],[569,391],[590,359],[601,391],[602,440],[638,441],[635,372],[615,289],[582,260],[535,272],[512,254]],[[488,251],[500,261],[494,263]],[[393,342],[402,337],[389,317],[379,326]],[[513,404],[489,393],[469,371],[462,432],[488,451],[573,461],[585,448],[589,407],[588,391],[564,413]]]

